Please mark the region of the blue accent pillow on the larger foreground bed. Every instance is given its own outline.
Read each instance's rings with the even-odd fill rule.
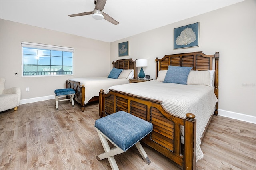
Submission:
[[[187,84],[188,74],[192,67],[168,66],[163,83]]]

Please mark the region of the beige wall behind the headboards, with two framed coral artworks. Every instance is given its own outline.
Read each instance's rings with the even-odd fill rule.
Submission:
[[[220,52],[219,113],[256,116],[256,1],[244,1],[110,43],[110,61],[148,59],[146,75],[155,78],[155,58],[166,54]],[[175,17],[175,16],[170,16]],[[199,22],[199,47],[173,49],[174,28]],[[129,56],[118,57],[118,43],[129,41]],[[255,122],[255,120],[254,120]]]

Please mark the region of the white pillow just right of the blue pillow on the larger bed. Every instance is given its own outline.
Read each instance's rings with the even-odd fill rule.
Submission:
[[[210,71],[190,71],[188,74],[188,85],[207,85],[212,83]]]

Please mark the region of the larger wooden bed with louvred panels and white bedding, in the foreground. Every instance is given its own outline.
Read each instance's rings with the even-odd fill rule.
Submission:
[[[99,115],[122,110],[151,122],[153,131],[142,142],[183,169],[196,169],[202,137],[218,114],[218,59],[218,52],[202,51],[156,58],[156,80],[100,90]],[[191,69],[186,83],[172,82],[173,68]]]

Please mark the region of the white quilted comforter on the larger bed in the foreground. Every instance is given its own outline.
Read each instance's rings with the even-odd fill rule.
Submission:
[[[218,101],[213,87],[162,83],[152,80],[112,86],[109,89],[160,100],[168,111],[180,117],[186,117],[186,113],[196,115],[196,161],[204,157],[200,148],[200,138],[202,138],[204,129],[210,116],[214,113],[215,104]]]

